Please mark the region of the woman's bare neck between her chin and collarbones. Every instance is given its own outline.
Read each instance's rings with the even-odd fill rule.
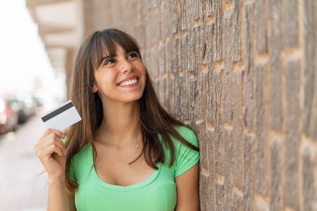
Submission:
[[[126,145],[140,140],[139,103],[103,108],[103,120],[94,136],[98,142]]]

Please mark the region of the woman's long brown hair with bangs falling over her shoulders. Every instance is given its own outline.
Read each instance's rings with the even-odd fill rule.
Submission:
[[[86,144],[91,144],[94,152],[96,152],[93,136],[102,122],[103,112],[99,95],[92,91],[92,86],[95,83],[94,72],[100,66],[104,52],[115,55],[116,43],[120,44],[126,52],[136,51],[141,58],[137,41],[129,34],[118,29],[104,29],[91,34],[83,41],[76,56],[69,96],[81,115],[82,121],[72,125],[66,132],[65,186],[68,193],[74,193],[78,187],[78,184],[69,177],[69,165],[73,155],[82,150]],[[144,92],[139,99],[139,129],[142,134],[143,148],[135,161],[143,154],[146,163],[153,169],[157,169],[156,165],[158,163],[166,162],[164,152],[164,147],[166,147],[171,152],[169,161],[171,167],[175,161],[175,147],[171,137],[194,150],[198,150],[198,148],[176,131],[175,126],[188,126],[172,117],[162,107],[147,70],[145,76]]]

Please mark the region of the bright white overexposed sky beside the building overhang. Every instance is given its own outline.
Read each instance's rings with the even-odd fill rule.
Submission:
[[[25,6],[25,0],[0,1],[0,94],[32,92],[33,81],[42,81],[43,91],[64,89],[56,77],[44,43]]]

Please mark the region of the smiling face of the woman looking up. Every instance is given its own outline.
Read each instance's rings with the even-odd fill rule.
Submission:
[[[104,55],[95,71],[92,90],[103,104],[128,103],[141,98],[145,82],[145,67],[138,53],[126,52],[116,44],[115,55]]]

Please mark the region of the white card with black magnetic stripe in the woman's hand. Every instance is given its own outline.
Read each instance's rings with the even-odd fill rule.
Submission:
[[[41,117],[47,128],[64,130],[82,120],[71,100]]]

